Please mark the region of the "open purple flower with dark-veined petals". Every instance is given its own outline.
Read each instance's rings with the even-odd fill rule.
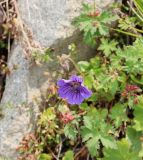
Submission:
[[[59,86],[59,96],[67,99],[70,104],[81,104],[85,98],[89,98],[92,94],[92,92],[83,85],[82,78],[76,75],[71,76],[69,80],[59,80],[57,85]]]

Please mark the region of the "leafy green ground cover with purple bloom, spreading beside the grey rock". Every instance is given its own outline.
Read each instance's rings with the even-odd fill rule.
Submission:
[[[143,5],[133,2],[106,11],[83,4],[73,24],[95,55],[76,63],[71,44],[58,57],[63,74],[48,90],[36,131],[18,147],[19,160],[142,159]]]

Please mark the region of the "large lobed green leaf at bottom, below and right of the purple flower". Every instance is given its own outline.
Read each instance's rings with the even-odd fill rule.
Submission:
[[[83,142],[86,142],[88,150],[92,156],[97,154],[99,148],[99,140],[105,147],[115,148],[115,140],[109,134],[112,127],[105,123],[107,110],[91,109],[84,116],[84,126],[81,127],[81,135]]]

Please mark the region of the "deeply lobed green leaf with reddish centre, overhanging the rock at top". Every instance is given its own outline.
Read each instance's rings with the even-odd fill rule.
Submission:
[[[102,11],[99,16],[92,17],[90,14],[93,12],[93,6],[84,5],[83,12],[74,20],[74,25],[83,31],[84,42],[91,47],[96,46],[96,37],[109,34],[107,24],[117,19],[117,16],[107,10]]]

